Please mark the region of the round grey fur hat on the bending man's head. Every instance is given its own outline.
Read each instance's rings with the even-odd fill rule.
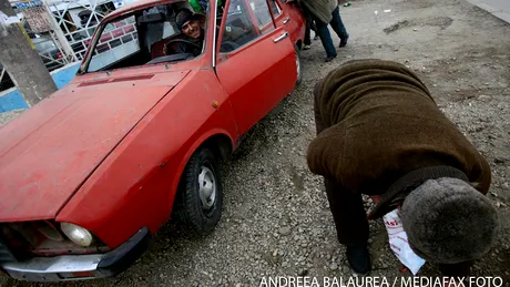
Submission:
[[[498,213],[469,183],[428,180],[404,201],[401,219],[412,250],[436,264],[478,259],[497,240]]]

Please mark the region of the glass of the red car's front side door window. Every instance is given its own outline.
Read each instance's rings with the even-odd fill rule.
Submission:
[[[252,2],[254,0],[249,0]],[[268,6],[265,2],[265,0],[262,0],[265,4],[255,6],[255,9],[258,9],[259,16],[261,16],[261,21],[267,22],[267,19],[264,20],[263,13],[264,13],[264,8],[265,8],[265,13],[268,13]],[[222,53],[227,53],[232,52],[242,45],[255,40],[258,38],[258,35],[265,33],[266,31],[263,31],[261,27],[255,27],[255,21],[258,22],[258,17],[255,14],[255,18],[253,19],[252,11],[248,10],[249,8],[246,4],[246,0],[232,0],[228,10],[227,10],[227,16],[225,20],[225,29],[223,30],[223,35],[222,35],[222,44],[220,45],[220,52]],[[268,16],[271,20],[271,14]],[[252,20],[253,19],[253,20]],[[273,23],[271,25],[266,24],[266,27],[273,27]]]

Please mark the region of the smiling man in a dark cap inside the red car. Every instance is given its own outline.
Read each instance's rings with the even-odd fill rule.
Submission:
[[[193,13],[190,9],[182,9],[175,17],[177,29],[185,35],[186,41],[191,43],[180,43],[175,53],[191,53],[197,57],[202,53],[204,43],[204,23],[203,14]],[[169,54],[169,48],[163,48],[164,54]]]

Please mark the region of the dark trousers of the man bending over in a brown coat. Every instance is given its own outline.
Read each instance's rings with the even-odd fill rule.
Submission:
[[[318,112],[315,100],[315,126],[317,135],[327,126]],[[368,221],[360,193],[346,188],[335,178],[324,178],[329,209],[335,221],[338,242],[344,245],[363,245],[368,242]]]

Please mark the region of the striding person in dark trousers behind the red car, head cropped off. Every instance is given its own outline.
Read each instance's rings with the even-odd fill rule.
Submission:
[[[341,22],[338,0],[299,0],[299,6],[305,14],[310,14],[317,25],[317,32],[320,37],[324,50],[326,50],[326,62],[330,62],[337,57],[333,39],[328,30],[332,25],[335,33],[340,38],[339,48],[347,44],[349,34]]]

